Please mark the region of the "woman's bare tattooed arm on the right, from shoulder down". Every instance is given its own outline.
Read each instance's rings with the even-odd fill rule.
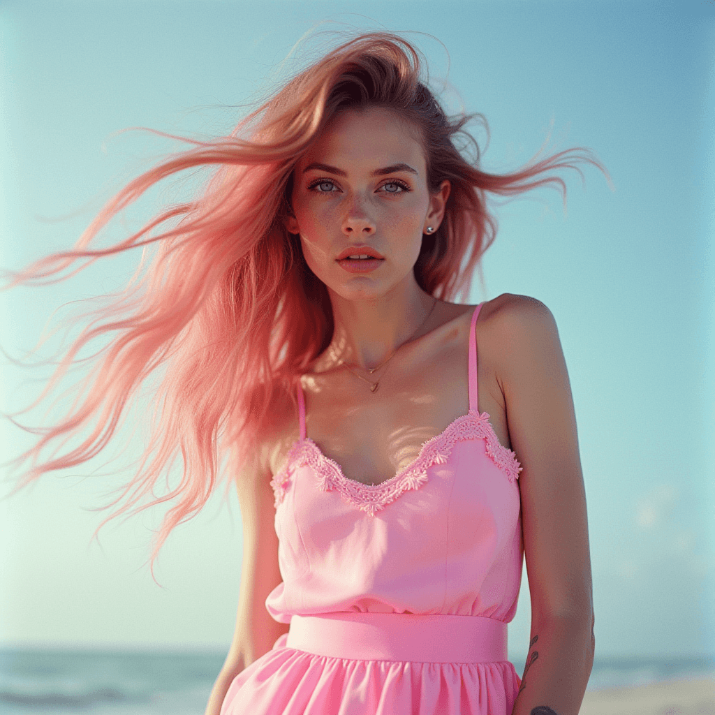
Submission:
[[[509,436],[523,470],[531,641],[513,715],[578,715],[593,667],[593,586],[576,415],[556,321],[511,295],[493,321]]]

